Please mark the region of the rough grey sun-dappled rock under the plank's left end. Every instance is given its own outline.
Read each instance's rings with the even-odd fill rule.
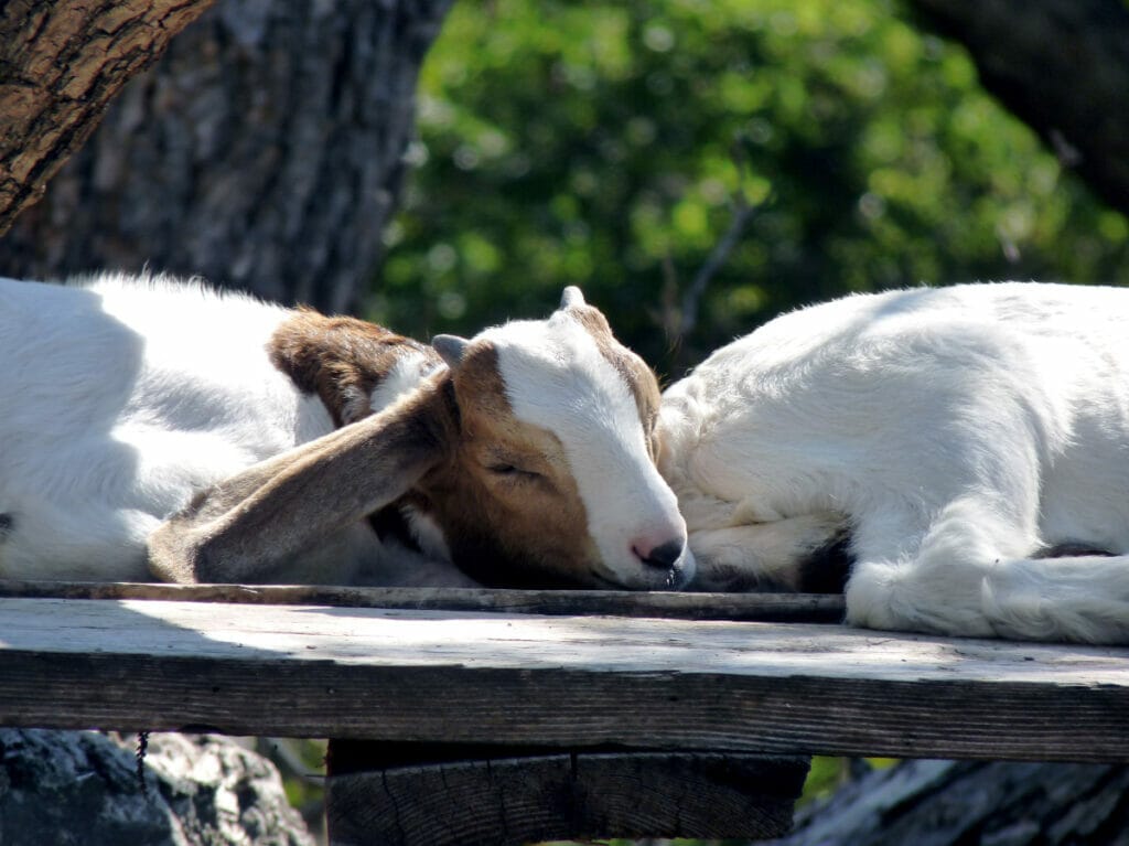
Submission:
[[[227,738],[0,729],[5,846],[314,846],[266,759]]]

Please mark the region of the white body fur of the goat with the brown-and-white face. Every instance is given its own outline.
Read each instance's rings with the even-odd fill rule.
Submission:
[[[12,523],[0,577],[143,581],[146,538],[195,492],[332,431],[268,357],[288,316],[164,277],[0,280],[0,514]],[[391,403],[412,368],[426,369],[405,364],[374,399]],[[356,524],[275,578],[391,582],[402,568]]]

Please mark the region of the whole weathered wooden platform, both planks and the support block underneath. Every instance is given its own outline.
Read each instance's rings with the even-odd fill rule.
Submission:
[[[800,621],[841,613],[0,583],[0,725],[332,738],[335,846],[776,837],[813,753],[1129,761],[1129,649]]]

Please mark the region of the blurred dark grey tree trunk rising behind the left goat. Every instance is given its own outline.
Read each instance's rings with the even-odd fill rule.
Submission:
[[[125,87],[0,239],[0,272],[148,265],[355,309],[449,3],[217,5]]]

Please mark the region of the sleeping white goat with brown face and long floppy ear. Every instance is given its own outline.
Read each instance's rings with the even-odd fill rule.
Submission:
[[[690,577],[657,384],[577,289],[435,348],[163,278],[0,280],[0,576]],[[403,572],[397,521],[462,574]]]

